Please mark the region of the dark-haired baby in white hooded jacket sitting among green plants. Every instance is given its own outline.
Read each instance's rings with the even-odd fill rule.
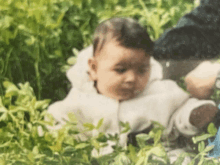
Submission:
[[[48,109],[59,122],[55,129],[74,112],[79,128],[104,118],[101,131],[110,134],[120,133],[120,121],[129,122],[130,132],[120,135],[122,146],[132,133],[146,132],[151,121],[161,123],[164,136],[173,142],[179,136],[198,134],[214,119],[215,103],[190,98],[174,81],[162,80],[162,67],[152,57],[153,46],[146,30],[132,19],[102,22],[93,48],[81,52],[67,73],[71,91]],[[101,154],[112,152],[109,144]]]

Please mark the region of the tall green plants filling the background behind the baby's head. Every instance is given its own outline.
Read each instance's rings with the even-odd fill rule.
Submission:
[[[98,23],[132,17],[155,40],[194,6],[191,0],[0,0],[0,94],[5,80],[28,81],[38,99],[60,100],[72,48],[90,45]]]

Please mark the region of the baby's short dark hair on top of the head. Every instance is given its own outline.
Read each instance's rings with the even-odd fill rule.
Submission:
[[[100,51],[109,39],[116,39],[126,48],[143,49],[152,54],[154,43],[146,29],[131,18],[112,18],[102,22],[95,30],[93,55]]]

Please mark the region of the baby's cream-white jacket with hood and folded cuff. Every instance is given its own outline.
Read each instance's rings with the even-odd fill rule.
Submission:
[[[174,81],[162,80],[161,65],[151,58],[150,80],[145,90],[135,98],[119,102],[98,94],[94,83],[89,80],[88,58],[92,56],[92,47],[79,53],[77,63],[67,72],[72,89],[66,98],[49,106],[48,112],[60,122],[54,129],[60,128],[69,112],[74,112],[79,123],[96,125],[101,118],[104,122],[101,131],[115,134],[120,132],[119,121],[129,122],[131,130],[120,135],[120,144],[126,146],[127,135],[139,132],[151,125],[151,121],[161,123],[166,129],[164,135],[175,140],[180,134],[195,135],[198,129],[190,124],[191,111],[213,101],[189,98]],[[175,129],[173,129],[175,127]],[[94,131],[93,134],[96,132]],[[90,135],[92,136],[92,134]],[[102,154],[110,153],[111,147],[103,149]]]

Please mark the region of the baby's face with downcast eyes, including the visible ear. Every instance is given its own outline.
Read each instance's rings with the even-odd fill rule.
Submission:
[[[89,60],[92,79],[99,93],[122,101],[135,97],[147,85],[150,56],[140,49],[109,42]]]

